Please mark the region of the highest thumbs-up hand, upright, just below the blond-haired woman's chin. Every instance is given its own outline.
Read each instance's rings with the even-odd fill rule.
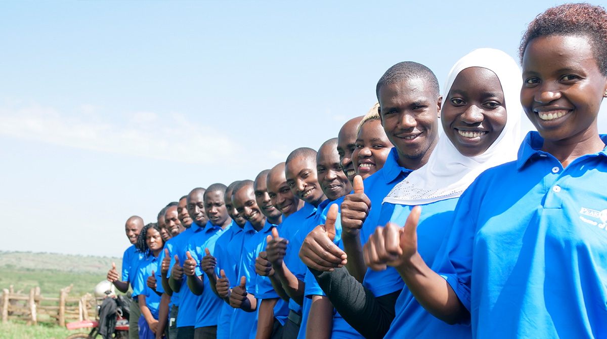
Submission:
[[[354,177],[352,187],[354,193],[345,196],[344,202],[341,204],[342,234],[345,236],[358,235],[371,209],[371,200],[365,194],[361,176]]]

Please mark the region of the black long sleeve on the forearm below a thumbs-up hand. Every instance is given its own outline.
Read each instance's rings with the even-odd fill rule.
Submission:
[[[394,320],[394,307],[401,290],[376,298],[345,267],[333,272],[314,269],[310,269],[310,272],[350,326],[367,339],[384,338]]]

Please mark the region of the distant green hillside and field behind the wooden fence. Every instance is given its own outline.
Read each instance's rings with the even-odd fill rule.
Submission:
[[[0,289],[13,285],[15,291],[29,293],[38,286],[42,295],[58,296],[60,289],[73,284],[70,295],[92,293],[95,285],[106,279],[112,262],[120,273],[122,258],[0,252]]]

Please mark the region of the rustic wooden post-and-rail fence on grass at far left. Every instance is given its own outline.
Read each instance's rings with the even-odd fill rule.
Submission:
[[[86,293],[80,298],[70,297],[72,285],[59,291],[59,298],[47,298],[40,295],[40,288],[30,289],[29,295],[22,291],[15,293],[13,286],[2,290],[2,322],[25,320],[27,324],[38,321],[50,321],[61,327],[68,320],[95,320],[97,318],[97,300]]]

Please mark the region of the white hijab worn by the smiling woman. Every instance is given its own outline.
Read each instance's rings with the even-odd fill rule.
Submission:
[[[463,156],[441,133],[428,163],[398,183],[384,202],[401,205],[425,205],[459,197],[485,169],[515,160],[520,144],[521,71],[517,63],[501,50],[475,49],[461,58],[449,72],[444,86],[443,107],[455,78],[469,67],[491,70],[500,80],[506,104],[506,126],[487,150],[475,157]]]

